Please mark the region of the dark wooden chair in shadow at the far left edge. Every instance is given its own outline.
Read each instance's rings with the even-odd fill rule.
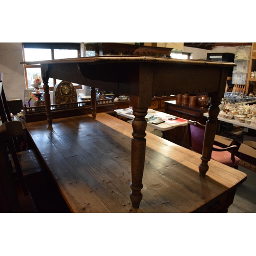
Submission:
[[[20,185],[22,186],[24,196],[28,196],[29,191],[23,177],[22,168],[20,167],[16,147],[14,144],[14,139],[16,136],[22,135],[23,133],[22,123],[19,121],[12,121],[11,119],[3,88],[2,73],[0,73],[0,117],[3,123],[0,129],[1,159],[3,160],[3,162],[1,162],[1,175],[2,178],[5,179],[5,181],[2,183],[1,189],[4,189],[5,187],[8,190],[10,188],[10,184],[12,183],[11,179],[18,178]],[[16,169],[15,173],[12,173],[12,168],[10,167],[9,154],[13,159],[13,163]]]

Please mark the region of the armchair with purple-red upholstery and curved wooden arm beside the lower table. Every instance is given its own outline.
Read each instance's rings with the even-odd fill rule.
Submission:
[[[187,125],[189,149],[202,154],[205,125],[191,120],[188,120]],[[211,159],[237,169],[240,161],[240,159],[234,155],[237,150],[238,146],[232,145],[232,143],[225,148],[214,145],[212,147]]]

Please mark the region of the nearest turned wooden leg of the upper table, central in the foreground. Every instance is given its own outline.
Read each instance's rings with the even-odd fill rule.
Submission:
[[[139,208],[140,201],[142,200],[141,189],[143,187],[142,177],[146,152],[146,114],[147,108],[133,108],[135,118],[132,122],[132,192],[130,199],[134,208]]]

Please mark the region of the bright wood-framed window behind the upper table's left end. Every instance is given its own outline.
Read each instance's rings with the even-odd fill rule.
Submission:
[[[77,58],[80,57],[80,44],[79,43],[23,43],[23,60],[36,61],[48,59],[63,59],[63,58]],[[41,77],[40,65],[24,65],[26,88],[31,89],[31,81],[35,77]],[[56,83],[60,80],[49,78],[48,84],[50,91]],[[71,81],[72,82],[72,81]],[[73,82],[72,82],[73,83]],[[80,84],[73,83],[76,89],[81,89]]]

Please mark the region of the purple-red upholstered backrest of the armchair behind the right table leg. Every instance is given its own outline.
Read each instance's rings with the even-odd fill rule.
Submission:
[[[188,120],[187,125],[189,149],[202,154],[205,125],[192,120]]]

